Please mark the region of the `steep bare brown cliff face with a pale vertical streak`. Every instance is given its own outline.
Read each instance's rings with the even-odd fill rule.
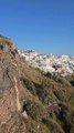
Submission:
[[[25,132],[20,103],[24,90],[19,76],[19,55],[12,41],[0,40],[0,133]],[[9,44],[10,42],[10,44]],[[11,49],[10,49],[11,48]],[[27,113],[24,117],[27,117]]]

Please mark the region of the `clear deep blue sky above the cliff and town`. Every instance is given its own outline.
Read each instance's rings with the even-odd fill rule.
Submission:
[[[0,34],[20,50],[74,55],[74,0],[0,0]]]

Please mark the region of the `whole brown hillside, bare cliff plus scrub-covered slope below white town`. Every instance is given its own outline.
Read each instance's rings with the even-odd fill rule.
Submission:
[[[74,133],[74,75],[51,75],[0,37],[0,133]]]

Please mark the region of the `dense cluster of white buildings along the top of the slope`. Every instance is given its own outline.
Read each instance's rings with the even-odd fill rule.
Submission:
[[[32,50],[19,51],[20,57],[32,66],[39,68],[44,72],[55,72],[62,75],[74,73],[74,57],[56,57],[52,53],[38,53]]]

